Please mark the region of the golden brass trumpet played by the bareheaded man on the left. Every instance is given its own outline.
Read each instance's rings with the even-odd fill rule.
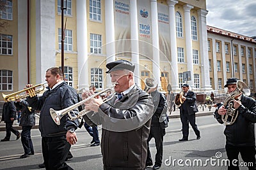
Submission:
[[[15,101],[18,99],[24,99],[26,97],[34,97],[36,96],[37,93],[42,92],[45,89],[45,86],[44,86],[45,84],[46,83],[41,83],[12,94],[3,94],[4,101],[8,102],[8,101]],[[40,87],[40,89],[36,90],[36,87]],[[22,94],[23,92],[26,92],[26,91],[28,91],[28,94]]]

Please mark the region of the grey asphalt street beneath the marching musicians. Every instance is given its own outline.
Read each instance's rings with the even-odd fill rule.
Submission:
[[[225,126],[218,124],[212,115],[196,117],[196,124],[201,132],[201,139],[196,140],[193,129],[190,129],[189,141],[180,142],[178,141],[182,138],[180,118],[170,119],[166,136],[164,136],[161,169],[227,169],[225,164],[223,165],[221,162],[221,160],[227,159],[223,134]],[[41,137],[38,129],[32,129],[31,133],[35,155],[26,159],[19,158],[24,151],[20,139],[15,140],[16,136],[13,134],[11,141],[0,142],[0,169],[38,169],[38,164],[43,162]],[[76,133],[78,142],[71,148],[74,157],[68,160],[67,164],[73,169],[103,169],[100,146],[90,147],[92,137],[89,136],[84,127],[78,129]],[[100,127],[99,133],[101,134]],[[0,132],[0,138],[3,139],[4,136],[5,132]],[[154,159],[156,153],[154,139],[150,141],[150,151]]]

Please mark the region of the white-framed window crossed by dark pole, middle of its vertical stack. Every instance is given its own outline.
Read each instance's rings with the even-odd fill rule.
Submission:
[[[61,50],[61,29],[58,29],[58,38],[59,50]],[[72,51],[72,31],[68,29],[65,30],[64,50],[69,52]]]

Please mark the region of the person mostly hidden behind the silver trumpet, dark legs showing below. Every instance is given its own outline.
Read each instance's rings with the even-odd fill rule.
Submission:
[[[96,92],[96,87],[94,85],[91,85],[89,87],[89,90],[92,90],[94,93]],[[86,122],[84,122],[84,128],[86,131],[92,136],[92,141],[90,146],[99,146],[100,145],[100,139],[99,139],[99,132],[97,125],[88,125]]]

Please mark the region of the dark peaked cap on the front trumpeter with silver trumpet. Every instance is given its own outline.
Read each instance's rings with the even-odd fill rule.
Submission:
[[[135,69],[135,65],[127,60],[116,60],[113,62],[109,62],[106,65],[106,67],[109,69],[108,71],[106,71],[106,73],[110,73],[111,71],[116,71],[116,70],[123,70],[123,69],[127,69],[134,72],[134,69]]]

